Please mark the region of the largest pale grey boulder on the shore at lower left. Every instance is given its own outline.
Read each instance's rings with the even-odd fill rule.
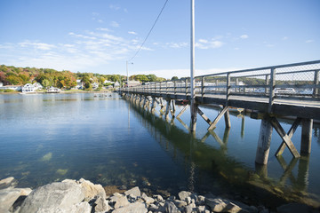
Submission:
[[[72,183],[43,185],[32,191],[23,201],[20,213],[40,210],[53,212],[52,209],[67,210],[73,205],[84,201],[84,197],[84,192],[80,185]]]

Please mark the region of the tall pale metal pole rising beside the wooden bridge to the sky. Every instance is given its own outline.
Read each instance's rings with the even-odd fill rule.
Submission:
[[[191,0],[191,61],[190,61],[190,88],[191,88],[191,131],[196,131],[196,99],[195,99],[195,0]]]

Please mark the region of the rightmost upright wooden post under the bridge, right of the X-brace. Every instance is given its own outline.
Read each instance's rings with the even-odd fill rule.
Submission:
[[[300,154],[311,152],[312,124],[313,119],[302,119]]]

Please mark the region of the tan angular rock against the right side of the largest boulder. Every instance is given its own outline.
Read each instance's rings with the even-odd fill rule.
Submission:
[[[84,196],[86,201],[92,200],[95,196],[102,196],[104,199],[106,199],[106,192],[103,189],[102,185],[94,185],[89,180],[85,180],[84,178],[81,178],[78,183],[81,185],[81,187],[84,189]]]

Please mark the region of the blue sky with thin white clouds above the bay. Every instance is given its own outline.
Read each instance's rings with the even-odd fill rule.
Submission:
[[[0,64],[126,75],[164,2],[0,1]],[[168,1],[130,75],[189,76],[189,13]],[[319,0],[196,0],[196,75],[316,59]]]

